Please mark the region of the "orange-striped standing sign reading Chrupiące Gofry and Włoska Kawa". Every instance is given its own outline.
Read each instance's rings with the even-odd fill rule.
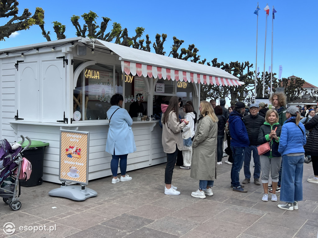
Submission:
[[[60,130],[59,180],[88,183],[89,132]]]

